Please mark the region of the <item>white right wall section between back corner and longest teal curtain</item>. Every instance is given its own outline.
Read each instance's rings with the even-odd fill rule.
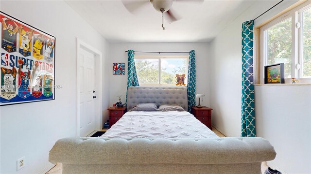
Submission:
[[[259,17],[255,26],[271,18],[295,1],[288,0]],[[242,91],[242,23],[254,19],[277,2],[257,1],[220,32],[209,44],[210,101],[213,110],[212,125],[226,136],[241,134]]]

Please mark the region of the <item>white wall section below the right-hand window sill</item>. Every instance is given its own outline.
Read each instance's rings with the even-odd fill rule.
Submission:
[[[255,86],[257,136],[275,147],[268,165],[311,173],[311,85]]]

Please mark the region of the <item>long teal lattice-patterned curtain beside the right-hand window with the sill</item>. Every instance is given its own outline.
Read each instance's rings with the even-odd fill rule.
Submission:
[[[253,52],[254,20],[251,20],[242,24],[242,137],[256,136]]]

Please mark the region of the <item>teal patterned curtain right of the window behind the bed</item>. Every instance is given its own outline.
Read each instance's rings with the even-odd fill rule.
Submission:
[[[189,55],[189,65],[188,65],[188,83],[187,83],[187,93],[188,93],[188,111],[191,112],[191,107],[195,106],[195,51],[191,50]]]

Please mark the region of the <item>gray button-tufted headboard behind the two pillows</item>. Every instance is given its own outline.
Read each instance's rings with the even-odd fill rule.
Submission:
[[[188,111],[187,87],[128,87],[127,110],[138,103],[180,104]]]

